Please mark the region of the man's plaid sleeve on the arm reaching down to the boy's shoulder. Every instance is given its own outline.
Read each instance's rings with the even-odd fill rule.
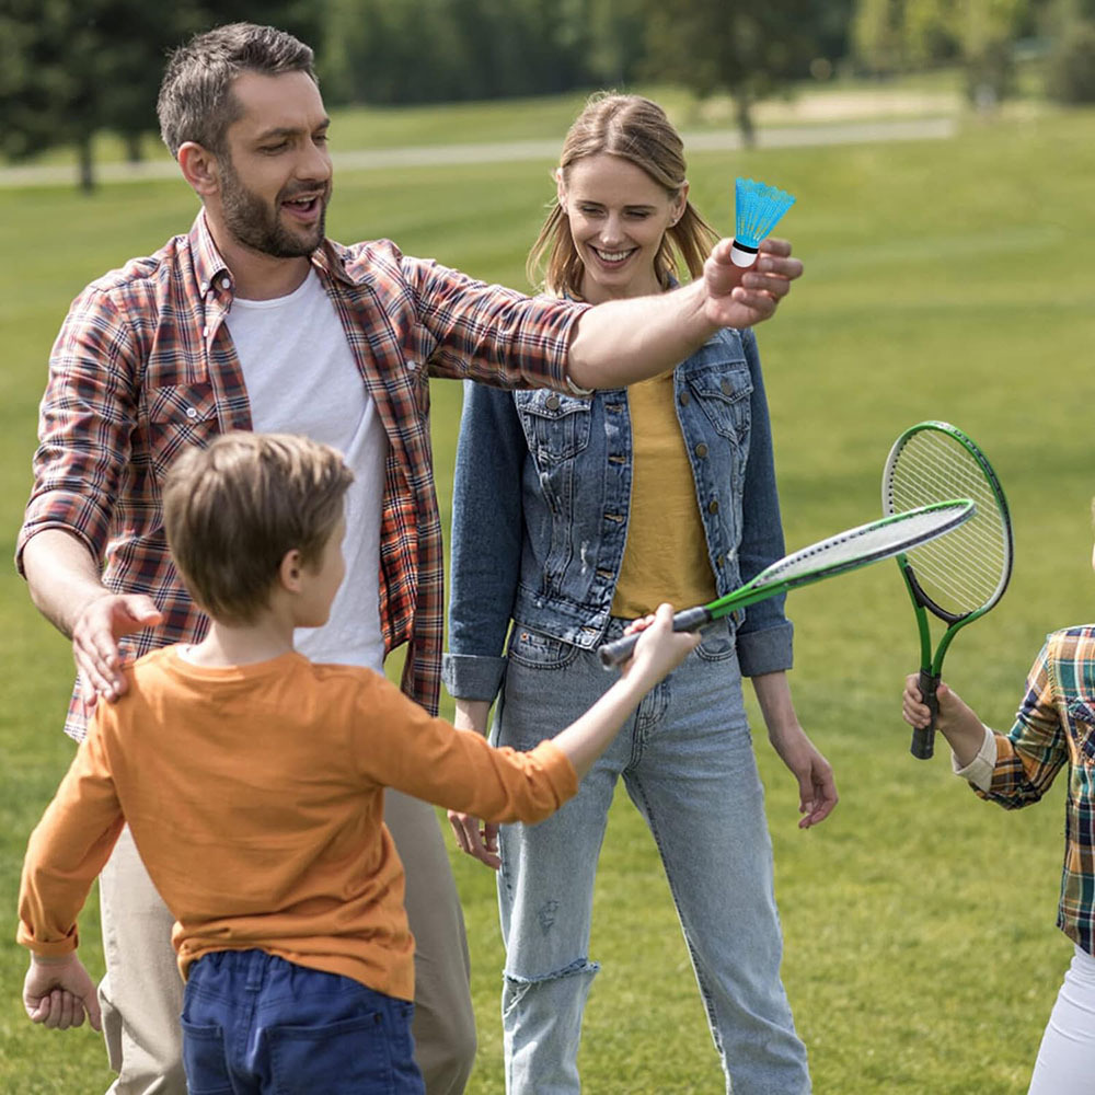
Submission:
[[[15,562],[36,533],[62,528],[102,561],[136,417],[135,337],[110,295],[89,287],[69,309],[49,358],[34,485]]]

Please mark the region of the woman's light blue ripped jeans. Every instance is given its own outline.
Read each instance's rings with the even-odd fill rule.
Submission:
[[[622,630],[613,621],[609,637]],[[515,624],[493,736],[526,750],[611,684],[596,652]],[[804,1095],[806,1048],[780,980],[783,944],[764,793],[728,630],[643,700],[577,797],[534,826],[503,826],[498,900],[506,1090],[580,1090],[593,876],[616,779],[661,855],[715,1047],[734,1095]]]

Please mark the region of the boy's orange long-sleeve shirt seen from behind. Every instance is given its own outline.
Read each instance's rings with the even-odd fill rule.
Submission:
[[[411,1000],[383,788],[495,821],[541,820],[577,789],[552,742],[493,749],[367,669],[299,654],[209,669],[166,647],[128,675],[31,834],[19,941],[41,955],[76,947],[128,822],[184,977],[209,952],[258,948]]]

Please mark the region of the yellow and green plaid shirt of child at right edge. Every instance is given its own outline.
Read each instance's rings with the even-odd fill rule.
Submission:
[[[1048,636],[1015,725],[995,742],[992,783],[973,789],[1007,809],[1038,802],[1069,766],[1057,926],[1095,955],[1095,625]]]

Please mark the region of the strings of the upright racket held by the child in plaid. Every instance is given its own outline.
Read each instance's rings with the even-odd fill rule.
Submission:
[[[914,434],[898,453],[887,486],[895,510],[956,496],[973,499],[971,520],[907,556],[921,589],[945,612],[961,616],[994,603],[1010,570],[1011,533],[975,457],[948,435]]]

